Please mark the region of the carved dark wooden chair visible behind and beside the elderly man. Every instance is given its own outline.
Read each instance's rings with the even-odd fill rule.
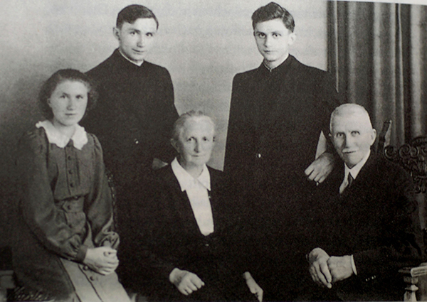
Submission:
[[[426,228],[426,204],[425,195],[427,191],[427,136],[418,136],[409,144],[399,148],[389,145],[391,132],[391,121],[384,122],[383,129],[379,134],[377,152],[398,163],[411,174],[415,185],[416,198],[420,209],[420,222],[423,231],[424,247],[427,247]],[[404,301],[427,301],[427,263],[416,267],[405,267],[399,270],[403,275],[406,288]]]

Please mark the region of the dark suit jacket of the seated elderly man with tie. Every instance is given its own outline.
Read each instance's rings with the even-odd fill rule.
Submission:
[[[357,276],[332,288],[357,301],[403,298],[403,266],[421,262],[421,227],[411,178],[401,167],[371,154],[349,188],[339,194],[344,165],[321,184],[313,203],[312,247],[330,256],[354,255]],[[307,252],[310,252],[307,250]]]

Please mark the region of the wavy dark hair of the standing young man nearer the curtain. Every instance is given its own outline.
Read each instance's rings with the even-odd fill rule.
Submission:
[[[275,2],[270,2],[265,6],[261,6],[252,14],[252,27],[255,29],[256,23],[265,22],[273,19],[282,19],[285,27],[292,33],[295,29],[295,21],[289,11],[283,9],[282,6]]]

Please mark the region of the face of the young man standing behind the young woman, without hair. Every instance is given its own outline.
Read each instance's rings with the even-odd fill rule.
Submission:
[[[134,23],[123,23],[121,28],[114,28],[119,41],[119,48],[129,60],[142,63],[154,44],[157,23],[154,18],[139,18]]]

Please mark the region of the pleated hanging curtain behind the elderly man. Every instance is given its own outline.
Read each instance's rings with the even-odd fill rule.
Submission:
[[[427,6],[328,2],[328,68],[391,144],[427,135]]]

